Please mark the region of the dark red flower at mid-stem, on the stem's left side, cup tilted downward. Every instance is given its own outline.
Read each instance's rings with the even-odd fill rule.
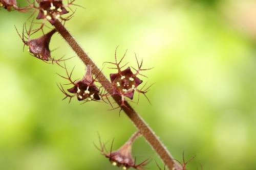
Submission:
[[[67,71],[67,67],[65,64],[65,68]],[[71,75],[72,75],[73,70],[71,71],[71,74],[68,74],[67,71],[67,75],[68,78],[61,76],[62,78],[65,78],[67,80],[69,80],[71,82],[71,84],[73,84],[74,86],[70,89],[68,89],[68,91],[70,93],[73,93],[74,95],[70,95],[68,94],[61,86],[60,90],[66,94],[66,98],[70,98],[70,100],[74,97],[77,96],[77,100],[78,101],[84,101],[86,100],[86,102],[88,101],[98,101],[100,100],[100,96],[99,96],[99,89],[97,88],[97,86],[94,84],[95,79],[93,79],[92,77],[92,68],[91,65],[87,65],[87,72],[86,75],[79,81],[72,81],[71,80]],[[60,75],[59,75],[60,76]]]

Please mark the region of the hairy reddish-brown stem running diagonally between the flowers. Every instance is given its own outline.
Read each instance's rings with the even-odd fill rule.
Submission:
[[[102,84],[102,86],[106,89],[106,91],[112,91],[111,82],[104,76],[104,74],[100,71],[100,69],[96,66],[96,64],[91,60],[91,58],[87,55],[86,52],[83,51],[81,46],[76,42],[76,40],[72,37],[69,31],[61,24],[60,21],[56,21],[54,24],[56,30],[60,33],[60,35],[68,42],[73,51],[77,54],[77,56],[82,60],[82,62],[86,65],[91,65],[92,73],[94,75],[98,75],[97,79]],[[113,99],[121,106],[121,97],[118,95],[114,95]],[[141,135],[145,137],[145,139],[152,145],[153,149],[158,153],[160,158],[166,164],[169,169],[180,168],[180,164],[173,160],[172,155],[168,152],[168,150],[164,147],[163,143],[158,139],[153,130],[144,122],[144,120],[140,117],[138,113],[125,101],[125,106],[123,107],[123,111],[126,115],[132,120],[134,125],[139,129]]]

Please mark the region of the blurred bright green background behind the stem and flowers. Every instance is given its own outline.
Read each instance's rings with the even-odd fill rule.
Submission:
[[[144,82],[156,83],[134,106],[179,160],[197,155],[188,169],[256,169],[256,2],[254,0],[76,1],[67,28],[102,67],[128,48],[125,61],[144,59]],[[56,83],[67,83],[46,64],[23,52],[29,14],[0,11],[0,169],[118,169],[93,145],[115,137],[119,148],[134,125],[104,103],[61,101]],[[54,35],[54,57],[75,56]],[[78,58],[73,78],[84,74]],[[104,68],[109,75],[113,70]],[[68,88],[68,87],[67,87]],[[137,95],[136,95],[137,99]],[[135,99],[135,100],[136,100]],[[110,145],[108,145],[110,147]],[[143,138],[133,148],[138,161],[156,153]],[[163,164],[161,163],[163,166]],[[147,165],[157,169],[154,161]]]

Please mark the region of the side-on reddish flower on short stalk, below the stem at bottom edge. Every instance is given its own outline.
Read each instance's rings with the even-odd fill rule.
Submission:
[[[96,145],[95,147],[102,153],[102,155],[104,155],[106,158],[109,158],[110,162],[114,166],[118,166],[123,169],[128,169],[130,167],[135,169],[144,169],[143,166],[147,164],[148,159],[136,165],[136,158],[134,159],[132,157],[132,144],[139,136],[140,133],[136,132],[124,145],[122,145],[121,148],[114,152],[112,152],[114,140],[112,141],[110,153],[106,153],[105,144],[102,144],[100,138],[100,148],[98,148]]]

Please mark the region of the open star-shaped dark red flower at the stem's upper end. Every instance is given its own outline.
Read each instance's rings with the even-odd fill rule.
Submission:
[[[36,19],[47,19],[52,25],[61,15],[69,13],[63,6],[62,0],[41,0],[38,9]]]

